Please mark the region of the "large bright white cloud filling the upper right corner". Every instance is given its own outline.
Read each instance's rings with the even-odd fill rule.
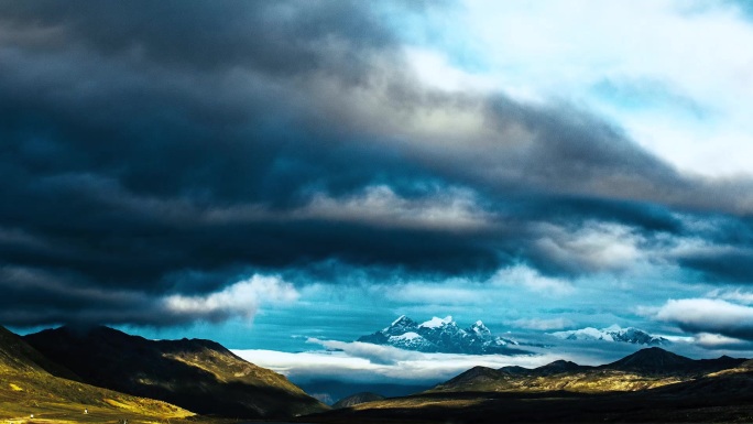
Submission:
[[[753,44],[753,25],[734,2],[463,4],[465,13],[452,12],[457,26],[468,32],[456,36],[470,39],[483,56],[484,75],[477,79],[493,78],[523,101],[556,98],[585,105],[680,168],[750,175],[753,123],[745,111],[753,108],[753,52],[739,46]],[[445,62],[451,61],[439,61]],[[428,83],[436,79],[432,73],[419,75]],[[604,81],[630,86],[646,80],[654,81],[654,89],[620,98],[593,90]],[[667,98],[656,104],[645,96]],[[702,112],[688,113],[688,104]],[[730,157],[724,153],[730,151],[740,154]]]

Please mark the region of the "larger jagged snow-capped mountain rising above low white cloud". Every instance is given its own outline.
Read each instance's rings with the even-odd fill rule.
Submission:
[[[477,320],[462,329],[451,316],[434,317],[418,324],[403,315],[388,327],[361,336],[357,341],[393,346],[406,350],[468,355],[527,355],[519,348],[519,343],[509,338],[493,336],[482,322]]]

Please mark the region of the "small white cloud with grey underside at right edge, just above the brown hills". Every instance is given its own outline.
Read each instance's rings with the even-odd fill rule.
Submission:
[[[718,298],[669,300],[654,317],[689,333],[753,339],[753,307]]]

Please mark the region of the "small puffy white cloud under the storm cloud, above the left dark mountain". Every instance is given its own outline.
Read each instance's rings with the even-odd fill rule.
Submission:
[[[251,319],[261,303],[294,302],[297,298],[295,287],[281,278],[253,275],[219,292],[203,296],[175,294],[163,302],[173,314],[222,320],[232,316]]]

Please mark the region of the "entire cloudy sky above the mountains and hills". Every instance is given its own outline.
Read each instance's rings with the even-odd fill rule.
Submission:
[[[285,372],[426,370],[352,344],[402,314],[753,356],[750,45],[745,1],[0,0],[0,324]]]

